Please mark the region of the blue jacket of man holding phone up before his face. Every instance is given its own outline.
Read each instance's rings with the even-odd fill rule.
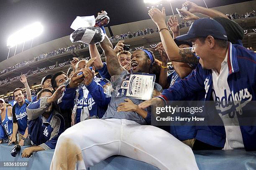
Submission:
[[[76,123],[81,122],[87,117],[97,116],[102,118],[105,114],[110,97],[104,93],[104,86],[108,81],[106,79],[95,78],[88,86],[83,85],[80,88],[66,88],[58,105],[61,109],[70,109],[77,104]],[[75,101],[79,91],[77,101]]]

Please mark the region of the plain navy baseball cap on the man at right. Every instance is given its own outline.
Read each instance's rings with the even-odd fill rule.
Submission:
[[[196,37],[207,37],[220,40],[228,40],[227,33],[223,26],[217,21],[210,18],[200,18],[195,20],[189,28],[187,34],[176,37],[179,41],[186,41]]]

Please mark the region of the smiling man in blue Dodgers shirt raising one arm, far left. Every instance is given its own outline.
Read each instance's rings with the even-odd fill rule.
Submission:
[[[28,82],[25,75],[20,76],[20,81],[25,85],[27,92],[27,99],[24,99],[24,91],[22,89],[15,89],[13,91],[13,96],[15,98],[16,104],[13,106],[13,134],[10,138],[10,143],[16,141],[16,134],[19,134],[19,145],[24,145],[24,139],[28,137],[28,116],[26,108],[28,104],[31,104],[31,91],[28,86]]]

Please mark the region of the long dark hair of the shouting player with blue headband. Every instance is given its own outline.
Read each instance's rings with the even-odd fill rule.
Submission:
[[[139,49],[139,50],[141,50],[141,49]],[[156,75],[156,81],[155,82],[159,83],[159,75],[160,75],[160,71],[161,71],[162,62],[159,61],[158,59],[156,59],[156,57],[154,56],[153,51],[150,51],[147,48],[143,48],[143,50],[147,50],[148,52],[150,52],[152,54],[153,58],[154,58],[154,62],[152,64],[152,66],[150,66],[149,74],[155,74]],[[147,56],[149,58],[148,54],[145,51],[143,51],[143,52],[145,53],[145,56]]]

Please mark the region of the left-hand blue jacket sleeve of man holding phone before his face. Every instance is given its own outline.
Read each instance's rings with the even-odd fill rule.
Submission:
[[[77,88],[68,89],[67,86],[61,98],[58,100],[58,106],[61,109],[72,109],[74,107],[74,99],[76,97]]]

